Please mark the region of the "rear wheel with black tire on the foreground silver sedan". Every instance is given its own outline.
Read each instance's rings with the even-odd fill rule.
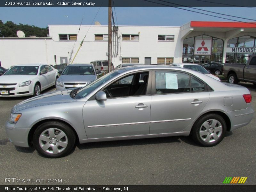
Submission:
[[[213,122],[216,122],[216,124]],[[208,125],[205,126],[205,123]],[[226,132],[227,125],[225,120],[220,115],[212,113],[206,114],[196,121],[191,130],[191,136],[199,145],[212,147],[223,140]]]

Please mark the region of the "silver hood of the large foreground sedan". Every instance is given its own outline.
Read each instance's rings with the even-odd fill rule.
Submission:
[[[20,111],[23,109],[38,107],[42,105],[74,102],[76,100],[72,99],[69,95],[71,91],[72,90],[55,91],[55,92],[38,95],[36,97],[30,98],[18,103],[12,108],[12,112],[16,113],[17,111]]]

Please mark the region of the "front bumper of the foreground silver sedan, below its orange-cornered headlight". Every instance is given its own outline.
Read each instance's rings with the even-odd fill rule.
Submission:
[[[20,147],[29,147],[28,145],[28,128],[16,128],[15,124],[10,124],[8,121],[5,124],[5,131],[9,139],[14,145]]]

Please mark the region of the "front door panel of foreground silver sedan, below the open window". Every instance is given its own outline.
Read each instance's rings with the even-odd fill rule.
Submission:
[[[83,108],[87,137],[149,134],[150,100],[147,95],[87,101]]]

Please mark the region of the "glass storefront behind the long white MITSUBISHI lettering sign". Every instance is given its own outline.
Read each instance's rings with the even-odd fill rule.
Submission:
[[[246,35],[229,39],[227,47],[256,47],[256,38]],[[247,63],[251,55],[255,55],[255,52],[227,52],[226,63]]]

